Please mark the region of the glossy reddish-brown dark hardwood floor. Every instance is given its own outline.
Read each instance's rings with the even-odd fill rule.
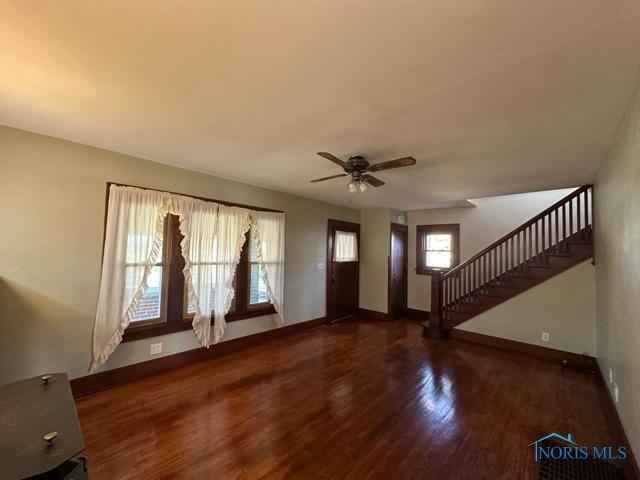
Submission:
[[[595,375],[421,334],[321,326],[82,398],[91,478],[533,479],[542,435],[614,442]]]

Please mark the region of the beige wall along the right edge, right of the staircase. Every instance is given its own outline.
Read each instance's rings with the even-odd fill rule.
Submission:
[[[640,458],[640,90],[594,188],[598,361]],[[614,383],[609,388],[614,390]]]

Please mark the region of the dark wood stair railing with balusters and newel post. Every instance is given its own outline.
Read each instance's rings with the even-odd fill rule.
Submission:
[[[591,227],[591,228],[587,228]],[[544,262],[542,252],[557,249],[567,238],[593,229],[593,185],[585,185],[551,205],[484,250],[444,273],[431,276],[431,314],[427,334],[446,334],[447,310],[487,283],[530,264]],[[585,240],[587,240],[585,238]]]

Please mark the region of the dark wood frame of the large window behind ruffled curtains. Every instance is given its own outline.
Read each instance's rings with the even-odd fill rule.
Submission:
[[[136,185],[123,185],[119,183],[107,183],[107,196],[105,205],[105,231],[107,214],[109,209],[109,189],[111,185],[120,185],[128,187],[142,188],[145,190],[156,190],[147,187],[139,187]],[[157,190],[156,190],[157,191]],[[165,191],[165,190],[162,190]],[[211,198],[196,197],[194,195],[185,195],[183,193],[173,193],[175,195],[183,195],[185,197],[197,198],[207,202],[215,202],[222,205],[243,207],[250,210],[257,210],[263,212],[279,212],[281,210],[273,210],[269,208],[254,207],[249,205],[242,205],[232,202],[225,202],[220,200],[214,200]],[[157,337],[161,335],[167,335],[170,333],[180,332],[183,330],[189,330],[192,328],[191,322],[193,315],[185,314],[185,285],[184,275],[182,269],[184,268],[184,259],[180,251],[180,242],[182,241],[182,234],[179,229],[179,220],[175,215],[168,215],[165,222],[165,242],[163,251],[163,280],[162,280],[162,300],[160,307],[161,318],[156,320],[144,320],[139,324],[130,324],[125,330],[122,341],[128,342],[133,340],[140,340],[143,338]],[[249,268],[249,245],[250,234],[247,232],[245,243],[242,247],[242,254],[240,255],[240,263],[236,270],[236,276],[234,278],[235,296],[233,300],[233,306],[231,312],[226,315],[227,322],[234,322],[238,320],[244,320],[247,318],[260,317],[263,315],[271,315],[276,313],[275,308],[271,303],[260,303],[251,305],[249,303],[249,291],[250,291],[250,268]],[[103,252],[104,252],[104,238],[103,238]],[[212,319],[213,321],[213,319]],[[137,322],[136,322],[137,323]]]

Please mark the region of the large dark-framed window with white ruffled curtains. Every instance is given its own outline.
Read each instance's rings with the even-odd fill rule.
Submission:
[[[193,329],[209,347],[228,321],[283,325],[285,226],[277,210],[108,183],[90,371],[125,339]]]

